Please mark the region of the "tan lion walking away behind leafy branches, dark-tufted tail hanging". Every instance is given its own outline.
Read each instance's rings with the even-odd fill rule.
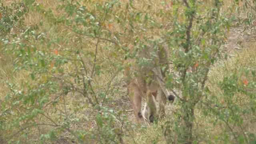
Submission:
[[[124,77],[128,96],[140,124],[148,125],[155,119],[165,118],[166,100],[174,101],[174,96],[164,86],[166,72],[170,68],[168,58],[169,52],[163,46],[148,46],[138,50],[136,58],[128,58],[125,62]],[[146,99],[143,111],[142,98]]]

